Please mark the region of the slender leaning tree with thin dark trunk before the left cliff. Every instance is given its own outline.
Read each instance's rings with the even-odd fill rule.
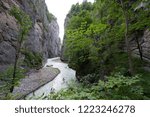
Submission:
[[[15,86],[15,81],[16,81],[16,72],[17,72],[17,64],[18,64],[18,60],[19,60],[19,54],[21,51],[22,43],[26,39],[29,29],[32,26],[32,22],[31,22],[30,17],[25,12],[23,12],[20,8],[18,8],[16,6],[14,6],[10,10],[10,15],[15,17],[17,23],[19,24],[19,36],[17,39],[15,63],[13,66],[13,77],[12,77],[12,83],[11,83],[11,88],[10,88],[10,92],[13,92],[13,89]]]

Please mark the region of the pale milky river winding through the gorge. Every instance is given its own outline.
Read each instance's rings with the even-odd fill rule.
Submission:
[[[38,90],[30,93],[25,99],[36,99],[41,96],[49,95],[51,92],[58,92],[67,88],[70,82],[76,80],[76,72],[68,67],[68,64],[61,62],[60,58],[48,59],[44,67],[54,67],[60,70],[60,73],[54,80],[40,87]]]

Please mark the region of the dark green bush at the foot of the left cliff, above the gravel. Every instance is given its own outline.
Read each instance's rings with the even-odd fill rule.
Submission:
[[[23,50],[22,53],[25,55],[24,63],[28,67],[39,69],[42,66],[42,54],[29,50]]]

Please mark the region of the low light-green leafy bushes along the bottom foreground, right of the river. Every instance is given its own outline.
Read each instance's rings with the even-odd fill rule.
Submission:
[[[146,99],[143,88],[139,85],[140,76],[125,77],[115,74],[107,77],[107,81],[99,81],[92,86],[82,84],[71,85],[58,93],[48,96],[48,99]]]

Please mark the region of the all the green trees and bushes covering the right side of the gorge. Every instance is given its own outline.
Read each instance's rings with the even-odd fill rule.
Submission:
[[[143,59],[139,42],[140,34],[149,29],[149,14],[146,0],[73,5],[67,15],[64,53],[82,88],[71,87],[50,99],[150,97],[150,72],[143,69],[149,63]],[[132,54],[133,40],[140,58]]]

